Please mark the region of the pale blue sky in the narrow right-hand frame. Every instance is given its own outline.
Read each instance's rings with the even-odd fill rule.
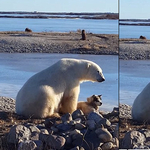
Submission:
[[[150,0],[120,0],[120,19],[150,19]]]

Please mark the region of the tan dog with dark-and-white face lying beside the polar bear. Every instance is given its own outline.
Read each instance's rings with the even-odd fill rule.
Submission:
[[[92,95],[87,98],[87,102],[78,102],[77,109],[82,110],[85,115],[92,111],[98,111],[102,105],[102,95]]]

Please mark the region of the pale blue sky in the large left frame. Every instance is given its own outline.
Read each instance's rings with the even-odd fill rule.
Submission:
[[[1,0],[0,11],[118,12],[118,0]]]

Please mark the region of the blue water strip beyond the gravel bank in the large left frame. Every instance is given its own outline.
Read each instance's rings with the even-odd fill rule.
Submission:
[[[118,34],[117,20],[0,18],[0,31],[70,32],[84,29],[98,34]]]

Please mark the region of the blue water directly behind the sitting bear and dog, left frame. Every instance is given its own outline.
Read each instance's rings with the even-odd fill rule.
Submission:
[[[51,66],[61,58],[87,59],[99,64],[105,82],[81,84],[79,100],[93,94],[102,94],[102,110],[111,111],[118,106],[118,57],[77,54],[0,54],[0,96],[15,98],[23,84],[35,73]]]

